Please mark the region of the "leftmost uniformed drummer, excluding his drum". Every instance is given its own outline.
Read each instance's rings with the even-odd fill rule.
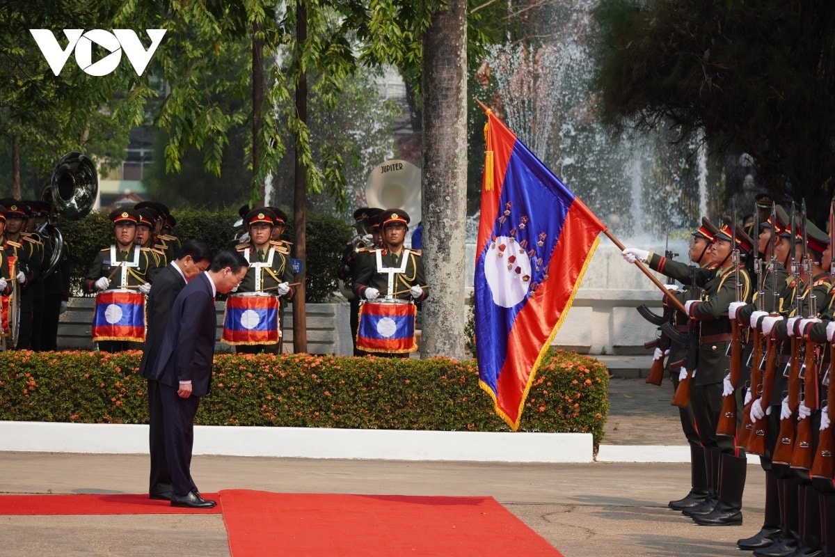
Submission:
[[[151,251],[136,245],[139,213],[129,208],[117,209],[110,213],[110,220],[116,242],[95,256],[84,277],[83,291],[92,294],[111,288],[132,288],[147,295],[158,267]],[[142,342],[102,341],[99,349],[104,352],[141,350]]]

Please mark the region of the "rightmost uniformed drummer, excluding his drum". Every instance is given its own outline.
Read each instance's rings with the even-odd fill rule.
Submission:
[[[352,289],[362,300],[397,298],[425,300],[429,286],[423,271],[422,257],[403,247],[409,215],[402,209],[386,209],[379,215],[385,247],[367,251],[357,261]],[[408,357],[407,353],[375,352],[377,355]]]

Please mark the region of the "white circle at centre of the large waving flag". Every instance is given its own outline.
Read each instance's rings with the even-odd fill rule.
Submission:
[[[490,242],[483,263],[493,303],[513,307],[524,300],[530,288],[530,258],[519,242],[498,236]]]

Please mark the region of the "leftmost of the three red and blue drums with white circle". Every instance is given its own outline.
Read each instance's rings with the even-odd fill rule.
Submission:
[[[144,342],[145,322],[144,294],[122,288],[99,292],[93,312],[93,342]]]

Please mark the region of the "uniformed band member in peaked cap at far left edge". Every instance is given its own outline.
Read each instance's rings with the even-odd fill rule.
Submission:
[[[18,350],[32,347],[32,322],[34,313],[35,286],[43,265],[43,244],[33,236],[23,234],[29,218],[28,205],[12,198],[0,200],[6,207],[5,239],[7,254],[14,256],[17,263],[15,281],[18,283]],[[9,253],[11,248],[12,253]],[[41,292],[43,294],[43,292]]]

